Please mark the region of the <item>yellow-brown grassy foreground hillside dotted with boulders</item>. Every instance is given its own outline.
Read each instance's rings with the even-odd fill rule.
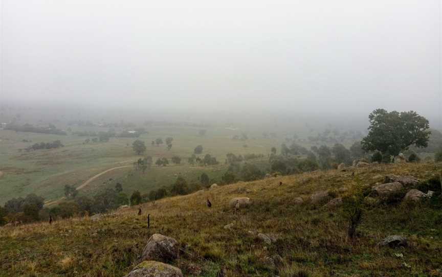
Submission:
[[[73,218],[54,224],[0,228],[0,276],[122,276],[139,263],[150,234],[181,245],[174,263],[185,275],[201,276],[441,276],[442,206],[439,197],[418,204],[364,204],[358,236],[347,238],[344,207],[328,210],[310,195],[334,196],[369,188],[376,175],[438,176],[441,164],[379,165],[351,172],[330,170],[239,182],[191,195],[162,199],[114,212],[103,219]],[[279,182],[282,186],[279,186]],[[422,190],[428,189],[422,182]],[[342,188],[346,188],[342,189]],[[406,191],[401,193],[401,197]],[[426,192],[426,191],[424,191]],[[231,198],[252,199],[234,213]],[[295,204],[295,197],[305,202]],[[213,206],[206,207],[209,198]],[[225,225],[234,223],[231,229]],[[257,234],[273,234],[271,245]],[[404,235],[409,246],[379,247],[389,235]],[[278,256],[280,258],[278,258]]]

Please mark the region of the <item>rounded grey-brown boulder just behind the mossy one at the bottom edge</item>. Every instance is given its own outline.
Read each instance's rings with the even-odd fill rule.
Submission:
[[[171,262],[178,258],[180,246],[178,241],[161,234],[153,234],[144,246],[142,260]]]

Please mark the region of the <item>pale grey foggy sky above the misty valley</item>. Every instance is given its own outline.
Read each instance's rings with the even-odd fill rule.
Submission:
[[[0,2],[0,101],[440,114],[437,0]]]

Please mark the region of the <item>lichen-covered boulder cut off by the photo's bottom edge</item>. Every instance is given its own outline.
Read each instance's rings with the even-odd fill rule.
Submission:
[[[125,277],[183,277],[181,269],[157,261],[144,261]]]

